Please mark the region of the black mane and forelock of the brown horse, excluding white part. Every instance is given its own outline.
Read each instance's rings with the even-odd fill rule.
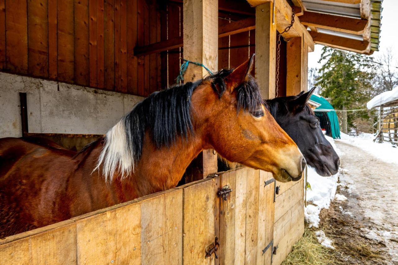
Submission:
[[[165,90],[154,92],[125,117],[127,145],[138,161],[142,154],[146,131],[152,134],[157,148],[169,147],[178,137],[188,139],[193,133],[191,121],[191,96],[193,90],[204,82],[210,82],[214,92],[221,98],[226,90],[225,78],[232,70],[220,70],[197,82],[174,85]],[[258,84],[252,76],[235,89],[237,93],[237,109],[255,111],[263,102]]]

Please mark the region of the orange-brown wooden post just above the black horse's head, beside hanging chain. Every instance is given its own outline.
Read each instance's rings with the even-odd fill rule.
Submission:
[[[286,95],[297,95],[301,91],[301,37],[293,38],[287,43]]]

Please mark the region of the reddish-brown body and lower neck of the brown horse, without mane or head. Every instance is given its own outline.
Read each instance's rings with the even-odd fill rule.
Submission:
[[[105,183],[100,171],[92,173],[101,141],[76,154],[18,138],[0,139],[0,237],[175,187],[203,148],[194,141],[176,144],[176,152],[147,145],[136,173]]]

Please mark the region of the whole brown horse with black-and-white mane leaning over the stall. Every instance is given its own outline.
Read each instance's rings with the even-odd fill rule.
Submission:
[[[252,64],[150,95],[78,153],[0,139],[0,237],[175,187],[209,148],[280,181],[299,178],[305,160],[263,106]]]

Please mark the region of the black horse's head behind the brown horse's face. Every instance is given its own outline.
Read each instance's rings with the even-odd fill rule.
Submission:
[[[340,159],[332,145],[322,133],[319,119],[307,101],[315,88],[297,96],[268,99],[271,115],[279,126],[296,142],[307,164],[321,176],[334,175],[339,170]]]

